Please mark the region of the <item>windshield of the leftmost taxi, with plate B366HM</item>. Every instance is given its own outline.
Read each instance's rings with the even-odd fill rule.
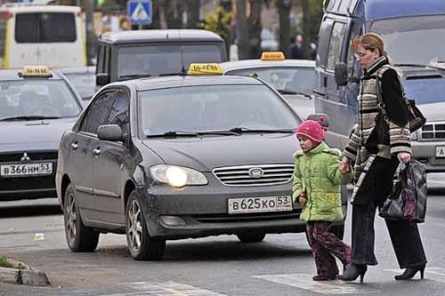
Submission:
[[[61,80],[0,82],[0,119],[20,116],[77,116],[81,108]]]

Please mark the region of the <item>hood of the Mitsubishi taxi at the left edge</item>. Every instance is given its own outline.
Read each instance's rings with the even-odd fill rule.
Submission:
[[[63,132],[76,118],[0,122],[0,152],[16,150],[57,150]]]

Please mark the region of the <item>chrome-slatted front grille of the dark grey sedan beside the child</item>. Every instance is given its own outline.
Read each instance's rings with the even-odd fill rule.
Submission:
[[[214,169],[214,176],[226,186],[266,186],[292,180],[294,164],[254,164]]]

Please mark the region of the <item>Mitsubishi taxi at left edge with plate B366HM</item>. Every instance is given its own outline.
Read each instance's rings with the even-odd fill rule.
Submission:
[[[0,71],[0,201],[56,197],[61,134],[82,111],[80,95],[58,71]]]

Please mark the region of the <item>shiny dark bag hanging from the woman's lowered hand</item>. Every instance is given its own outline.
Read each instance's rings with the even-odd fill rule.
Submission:
[[[390,220],[424,222],[427,197],[425,164],[417,160],[411,160],[409,164],[401,162],[396,174],[397,180],[380,208],[379,216]]]

